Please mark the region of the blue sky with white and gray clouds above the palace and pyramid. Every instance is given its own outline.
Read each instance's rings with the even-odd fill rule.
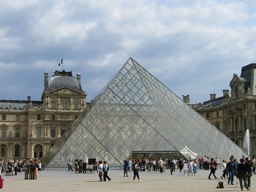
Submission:
[[[190,103],[220,97],[254,63],[255,10],[250,0],[0,1],[0,99],[40,100],[62,56],[87,101],[130,57]]]

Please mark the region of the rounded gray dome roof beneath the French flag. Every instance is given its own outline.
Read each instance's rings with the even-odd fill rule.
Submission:
[[[64,86],[73,90],[82,90],[80,82],[72,76],[53,76],[48,83],[47,89],[54,90]]]

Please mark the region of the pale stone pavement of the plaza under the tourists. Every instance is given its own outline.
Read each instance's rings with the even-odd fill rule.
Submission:
[[[68,168],[67,168],[68,169]],[[228,185],[227,179],[220,178],[221,171],[216,171],[218,179],[208,180],[210,170],[198,170],[196,176],[184,176],[183,173],[175,171],[170,175],[170,170],[166,173],[159,172],[140,172],[142,182],[133,183],[133,173],[129,177],[123,176],[122,170],[109,170],[108,175],[112,179],[110,182],[99,182],[98,174],[76,174],[73,172],[58,171],[39,171],[38,180],[24,180],[24,172],[18,176],[5,176],[2,173],[4,188],[0,192],[130,192],[136,191],[161,191],[161,192],[215,192],[215,191],[240,191],[236,185]],[[216,188],[219,181],[224,182],[224,188]],[[234,183],[236,178],[234,179]],[[251,191],[256,191],[256,175],[251,178]],[[244,188],[245,191],[247,191]]]

